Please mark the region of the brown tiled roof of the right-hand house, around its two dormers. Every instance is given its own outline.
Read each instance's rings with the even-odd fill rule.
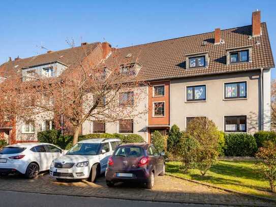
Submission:
[[[266,23],[261,24],[262,35],[249,39],[252,25],[224,29],[221,37],[224,44],[214,44],[214,32],[181,37],[171,40],[152,42],[142,45],[116,49],[116,61],[126,58],[131,53],[132,60],[142,66],[138,76],[144,80],[188,77],[235,71],[273,68],[274,62]],[[202,41],[206,41],[205,46]],[[256,44],[259,41],[260,44]],[[252,46],[252,63],[236,65],[226,64],[226,50]],[[208,52],[208,68],[186,69],[186,55]],[[107,67],[114,66],[114,57],[106,60]]]

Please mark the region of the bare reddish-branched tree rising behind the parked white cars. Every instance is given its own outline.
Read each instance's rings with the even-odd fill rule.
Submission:
[[[74,54],[78,65],[56,78],[14,75],[0,83],[0,113],[24,120],[49,113],[56,119],[64,116],[72,125],[75,144],[86,120],[116,122],[146,112],[137,110],[145,93],[143,86],[147,84],[136,75],[140,67],[137,60],[128,57],[118,60],[113,49],[114,61],[107,67],[100,57],[84,53],[84,58]],[[21,81],[22,78],[28,81]]]

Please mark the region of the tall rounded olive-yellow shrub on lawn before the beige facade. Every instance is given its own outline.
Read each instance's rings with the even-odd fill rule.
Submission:
[[[206,117],[196,117],[187,127],[187,133],[199,143],[197,153],[197,168],[202,175],[218,158],[220,131],[216,125]]]

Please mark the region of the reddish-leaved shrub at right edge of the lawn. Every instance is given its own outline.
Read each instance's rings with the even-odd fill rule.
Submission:
[[[262,161],[256,165],[257,172],[269,181],[270,190],[275,192],[276,181],[276,143],[265,141],[260,147],[256,157]]]

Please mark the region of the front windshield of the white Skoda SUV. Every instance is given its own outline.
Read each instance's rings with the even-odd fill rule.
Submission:
[[[100,143],[77,143],[66,155],[97,155]]]

